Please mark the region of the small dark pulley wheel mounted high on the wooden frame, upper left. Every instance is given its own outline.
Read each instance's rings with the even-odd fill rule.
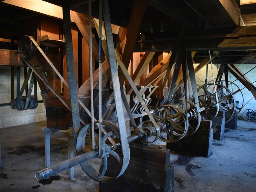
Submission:
[[[30,58],[36,53],[36,46],[29,36],[23,36],[18,43],[18,52],[23,58]]]

